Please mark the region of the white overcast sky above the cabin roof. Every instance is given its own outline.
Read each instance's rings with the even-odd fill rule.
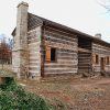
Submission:
[[[29,11],[90,35],[102,34],[110,42],[110,13],[99,0],[0,0],[0,34],[11,36],[16,24],[16,6],[29,3]]]

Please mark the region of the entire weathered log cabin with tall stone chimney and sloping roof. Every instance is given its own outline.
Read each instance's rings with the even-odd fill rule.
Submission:
[[[28,12],[18,6],[12,67],[18,78],[110,72],[110,43]]]

